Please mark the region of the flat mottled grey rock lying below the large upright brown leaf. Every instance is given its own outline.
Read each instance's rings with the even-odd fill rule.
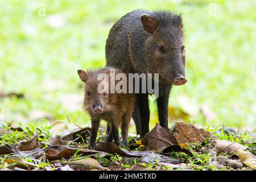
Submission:
[[[171,164],[181,163],[180,160],[173,159],[165,155],[154,154],[153,152],[150,154],[143,155],[141,157],[141,163],[156,163],[157,161],[162,163],[171,163]]]

